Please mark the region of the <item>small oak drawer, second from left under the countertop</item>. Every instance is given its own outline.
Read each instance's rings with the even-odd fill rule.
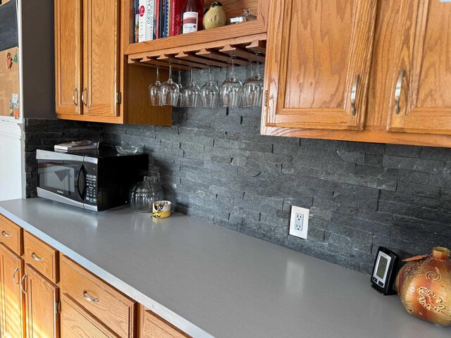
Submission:
[[[42,273],[49,280],[58,283],[58,251],[41,239],[25,231],[23,235],[23,258],[25,263]]]

